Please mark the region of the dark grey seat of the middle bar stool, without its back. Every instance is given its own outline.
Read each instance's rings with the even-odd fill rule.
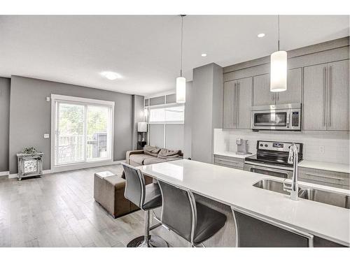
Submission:
[[[193,242],[198,245],[218,232],[226,222],[225,214],[218,212],[207,205],[196,202],[197,226]]]

